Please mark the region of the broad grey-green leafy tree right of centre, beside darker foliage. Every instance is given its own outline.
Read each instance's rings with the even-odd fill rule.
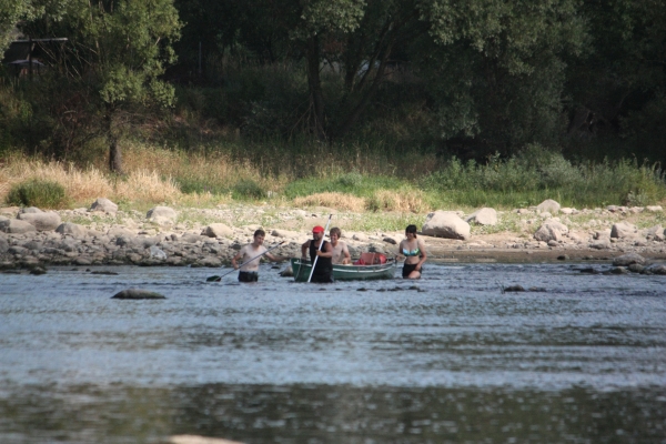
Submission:
[[[463,153],[511,155],[523,145],[554,147],[564,122],[565,56],[579,54],[577,0],[420,1],[431,24],[418,64],[440,115],[440,137]],[[466,153],[464,151],[467,151]]]

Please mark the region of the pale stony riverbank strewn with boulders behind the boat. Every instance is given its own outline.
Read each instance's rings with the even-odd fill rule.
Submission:
[[[300,255],[313,225],[343,230],[352,256],[364,251],[394,253],[403,231],[355,231],[363,214],[331,209],[271,205],[220,205],[215,209],[157,206],[148,212],[119,211],[105,199],[90,208],[41,211],[0,209],[0,268],[49,265],[190,265],[230,263],[253,232],[266,231],[266,245],[284,241],[275,252]],[[660,206],[563,209],[554,201],[498,212],[482,209],[436,211],[420,228],[430,261],[536,262],[617,260],[635,253],[666,260],[666,215]]]

